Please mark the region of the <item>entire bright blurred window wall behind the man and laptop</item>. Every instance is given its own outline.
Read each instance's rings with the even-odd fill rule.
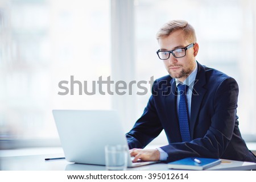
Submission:
[[[171,19],[196,30],[199,63],[240,86],[241,133],[256,141],[256,2],[254,0],[0,0],[0,148],[59,144],[52,109],[116,109],[125,132],[150,97],[75,93],[62,80],[149,81],[167,75],[155,34]],[[140,90],[142,92],[142,90]],[[72,131],[71,131],[72,132]],[[11,143],[15,141],[16,143]],[[166,144],[160,134],[155,144]]]

